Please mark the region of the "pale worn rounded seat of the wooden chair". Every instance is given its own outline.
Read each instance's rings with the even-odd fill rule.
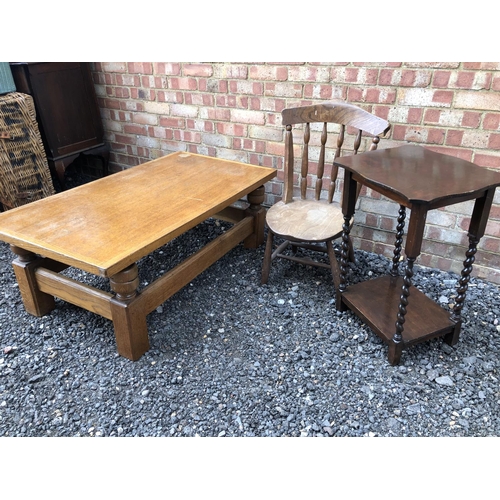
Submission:
[[[338,203],[294,198],[269,208],[266,222],[273,233],[285,239],[323,242],[342,233],[344,216]]]

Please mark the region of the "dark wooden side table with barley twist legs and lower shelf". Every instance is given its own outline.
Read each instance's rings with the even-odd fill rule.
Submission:
[[[495,188],[500,185],[500,173],[412,145],[343,157],[335,163],[345,169],[337,309],[354,311],[389,345],[392,365],[400,362],[403,349],[433,337],[443,336],[447,344],[455,345],[474,256],[484,234]],[[348,287],[348,238],[359,183],[399,203],[400,208],[389,275]],[[411,286],[413,264],[420,254],[427,212],[467,200],[475,200],[469,224],[469,248],[450,315]],[[405,243],[406,266],[400,276],[407,208],[411,214]]]

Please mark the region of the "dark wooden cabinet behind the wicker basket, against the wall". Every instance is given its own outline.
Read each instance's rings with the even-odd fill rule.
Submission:
[[[80,155],[101,159],[108,173],[109,150],[88,63],[11,63],[18,92],[35,100],[49,166],[64,188],[66,168]]]

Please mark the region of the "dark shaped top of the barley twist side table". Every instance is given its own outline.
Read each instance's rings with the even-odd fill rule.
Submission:
[[[476,198],[500,185],[500,172],[422,146],[344,156],[335,164],[355,173],[355,180],[382,194],[408,206],[427,204],[429,209]]]

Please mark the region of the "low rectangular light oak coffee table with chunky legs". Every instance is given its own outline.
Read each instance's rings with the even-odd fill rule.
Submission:
[[[0,214],[26,310],[43,316],[56,296],[100,314],[113,321],[119,354],[138,359],[149,349],[147,314],[239,242],[263,242],[263,184],[275,175],[179,152]],[[248,208],[231,206],[245,195]],[[235,224],[138,291],[136,261],[212,216]],[[114,293],[59,274],[68,266],[109,278]]]

